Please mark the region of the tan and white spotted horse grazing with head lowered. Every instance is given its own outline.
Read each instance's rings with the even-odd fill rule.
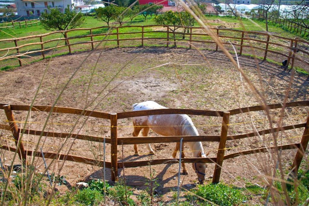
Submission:
[[[159,105],[153,101],[146,101],[141,103],[135,103],[132,105],[132,111],[151,110],[151,109],[166,109],[162,105]],[[191,118],[188,115],[170,114],[170,115],[150,115],[140,116],[132,118],[134,131],[133,137],[138,137],[138,134],[143,129],[143,136],[147,137],[149,129],[152,129],[155,133],[163,136],[198,136],[197,129],[195,128]],[[137,127],[136,127],[137,126]],[[205,158],[207,154],[204,153],[201,142],[188,142],[190,150],[193,153],[194,158]],[[155,152],[151,149],[150,144],[147,144],[149,153]],[[176,143],[175,150],[172,154],[173,158],[176,158],[177,151],[180,149],[180,143]],[[138,154],[137,145],[134,144],[135,155]],[[184,158],[184,144],[181,148],[181,158]],[[181,163],[184,174],[188,174],[184,163]],[[192,163],[193,170],[197,173],[198,181],[203,184],[205,180],[206,163]]]

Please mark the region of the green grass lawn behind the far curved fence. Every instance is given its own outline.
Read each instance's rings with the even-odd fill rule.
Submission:
[[[124,20],[125,23],[123,23],[123,25],[152,25],[155,24],[154,22],[154,17],[155,15],[153,15],[152,17],[148,16],[147,19],[145,20],[144,17],[142,15],[138,15],[135,19],[133,19],[132,24],[130,23],[130,19],[126,18]],[[102,21],[98,21],[95,16],[91,17],[91,16],[86,16],[86,21],[84,23],[84,25],[82,26],[83,28],[93,28],[93,27],[100,27],[100,26],[107,26],[107,24],[105,22]],[[249,19],[243,18],[242,20],[239,20],[235,17],[220,17],[220,16],[206,16],[206,19],[209,23],[209,25],[211,27],[217,27],[219,25],[223,26],[223,27],[227,27],[227,28],[233,28],[233,29],[239,29],[239,30],[248,30],[248,31],[265,31],[265,22],[262,21],[255,21],[252,22]],[[194,26],[198,26],[198,24],[195,22]],[[156,31],[158,30],[159,27],[146,27],[144,29],[144,32],[149,32],[149,31]],[[141,32],[141,28],[119,28],[119,32]],[[162,30],[162,29],[161,29]],[[39,34],[44,34],[44,33],[48,33],[50,31],[47,31],[44,29],[44,27],[42,25],[35,25],[33,24],[32,26],[28,26],[27,28],[17,28],[15,27],[15,29],[11,29],[11,28],[6,28],[3,30],[0,30],[0,39],[6,39],[6,38],[14,38],[14,37],[23,37],[23,36],[32,36],[32,35],[39,35]],[[107,28],[99,28],[99,29],[93,29],[92,30],[92,34],[102,34],[102,33],[106,33],[108,31]],[[176,32],[183,32],[184,30],[179,28],[178,30],[176,30]],[[116,29],[114,29],[112,31],[112,33],[115,33]],[[195,32],[195,31],[194,31]],[[276,25],[269,25],[269,32],[271,32],[272,34],[277,34],[279,36],[284,36],[284,37],[290,37],[290,38],[294,38],[294,34],[287,32],[285,30],[283,30],[280,27],[277,27]],[[203,32],[204,33],[204,32]],[[89,30],[84,30],[84,31],[74,31],[74,32],[68,32],[68,37],[72,37],[72,36],[77,36],[77,35],[89,35],[90,31]],[[235,33],[235,32],[229,32],[229,31],[220,31],[220,35],[225,35],[225,36],[238,36],[241,37],[241,33]],[[166,33],[160,33],[160,32],[152,32],[152,33],[145,33],[144,34],[144,38],[151,38],[151,37],[162,37],[162,38],[166,38],[167,34]],[[63,35],[61,33],[57,33],[57,34],[53,34],[53,35],[49,35],[49,36],[45,36],[43,37],[43,41],[47,41],[47,40],[52,40],[52,39],[57,39],[57,38],[62,38]],[[95,36],[93,37],[93,40],[95,41],[100,41],[103,38],[107,38],[110,40],[115,40],[116,39],[116,35],[110,35],[107,37],[104,37],[104,35],[102,36]],[[141,38],[141,34],[129,34],[129,35],[120,35],[119,36],[120,39],[125,39],[125,38]],[[170,38],[172,38],[172,35],[170,34]],[[181,39],[182,35],[177,35],[177,38]],[[266,36],[252,36],[252,38],[259,38],[261,40],[266,40]],[[189,35],[185,36],[185,39],[189,39]],[[193,40],[211,40],[209,36],[196,36],[193,35]],[[85,42],[85,41],[90,41],[90,37],[81,37],[78,39],[71,39],[69,40],[70,44],[72,43],[76,43],[76,42]],[[158,40],[158,41],[150,41],[150,40],[145,40],[144,41],[144,45],[145,46],[149,46],[149,45],[165,45],[166,40]],[[232,43],[234,44],[240,44],[240,40],[230,40]],[[285,43],[286,42],[282,42],[280,39],[276,39],[273,40],[276,41],[277,43]],[[36,43],[36,42],[40,42],[39,38],[32,38],[32,39],[26,39],[26,40],[18,40],[17,44],[18,45],[22,45],[22,44],[28,44],[28,43]],[[45,43],[44,44],[44,49],[46,48],[52,48],[55,47],[56,45],[64,45],[65,42],[64,40],[60,40],[60,41],[51,41],[49,43]],[[173,43],[171,42],[171,45]],[[256,46],[259,46],[258,43],[254,42],[253,44],[255,44]],[[107,41],[104,42],[102,45],[100,45],[100,47],[102,48],[103,46],[105,47],[115,47],[116,41]],[[120,46],[140,46],[141,45],[141,40],[130,40],[130,41],[120,41]],[[186,44],[187,45],[187,44]],[[181,46],[179,44],[179,46]],[[15,47],[15,44],[13,41],[7,41],[7,42],[0,42],[0,48],[10,48],[10,47]],[[78,45],[73,45],[71,46],[71,50],[72,51],[82,51],[86,49],[90,49],[91,45],[84,45],[84,44],[78,44]],[[100,48],[99,47],[99,48]],[[265,47],[265,45],[261,46],[261,47]],[[19,49],[20,53],[23,52],[28,52],[28,51],[32,51],[32,50],[39,50],[41,48],[41,46],[39,44],[37,45],[30,45],[30,46],[25,46],[23,48]],[[275,50],[275,51],[279,51],[279,52],[283,52],[283,53],[287,53],[285,50],[282,50],[282,48],[277,47],[277,46],[273,46],[273,45],[269,45],[269,49],[271,50]],[[58,48],[55,49],[53,55],[61,55],[64,53],[67,53],[68,49],[67,47],[62,47],[62,48]],[[0,52],[1,56],[6,55],[7,51],[2,51]],[[15,54],[16,50],[10,50],[8,51],[8,54]],[[48,52],[47,54],[45,54],[46,56],[51,55],[51,52]],[[32,56],[36,56],[36,57],[32,57],[31,59],[28,58],[23,59],[27,62],[31,62],[31,61],[38,61],[40,60],[41,56],[40,53],[36,53],[35,55]],[[30,59],[30,60],[29,60]],[[17,60],[8,60],[8,61],[0,61],[0,67],[5,67],[8,68],[10,66],[15,66],[18,64]]]

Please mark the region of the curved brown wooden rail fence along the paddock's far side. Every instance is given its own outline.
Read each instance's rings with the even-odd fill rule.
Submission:
[[[141,31],[138,32],[119,32],[119,29],[121,28],[133,28],[133,29],[141,29]],[[153,28],[153,27],[157,27],[157,28],[166,28],[158,31],[145,31],[145,28]],[[144,42],[145,40],[164,40],[166,41],[166,46],[168,47],[171,41],[182,41],[182,42],[188,42],[188,47],[191,48],[191,44],[194,42],[197,43],[208,43],[208,44],[214,44],[216,45],[216,51],[218,51],[218,44],[213,41],[212,39],[209,40],[203,40],[201,38],[205,38],[205,37],[209,37],[208,34],[206,34],[204,31],[202,31],[201,27],[182,27],[185,28],[188,32],[172,32],[169,28],[173,27],[173,25],[147,25],[147,26],[121,26],[121,27],[108,27],[108,26],[103,26],[103,27],[94,27],[94,28],[76,28],[76,29],[70,29],[67,31],[55,31],[55,32],[49,32],[46,34],[41,34],[41,35],[33,35],[33,36],[25,36],[25,37],[20,37],[20,38],[11,38],[11,39],[1,39],[0,42],[4,42],[4,44],[6,43],[10,43],[10,42],[14,42],[15,47],[8,47],[8,48],[1,48],[1,51],[11,51],[11,50],[16,50],[15,54],[11,54],[10,56],[2,56],[0,57],[0,61],[2,60],[6,60],[6,59],[14,59],[14,58],[18,58],[19,59],[19,65],[22,65],[22,61],[21,61],[21,57],[22,56],[29,56],[29,55],[33,55],[35,53],[41,53],[43,59],[45,58],[45,53],[47,51],[50,51],[52,49],[56,49],[56,48],[62,48],[62,47],[67,47],[69,50],[69,53],[72,52],[71,50],[71,46],[73,45],[77,45],[77,44],[91,44],[91,49],[95,48],[95,43],[99,43],[101,41],[116,41],[117,42],[117,47],[120,46],[120,42],[121,41],[129,41],[131,43],[132,40],[140,40],[141,41],[141,46],[144,46]],[[116,29],[115,33],[112,32],[100,32],[100,33],[96,33],[93,34],[92,31],[95,29],[101,29],[101,28],[108,28],[108,29]],[[309,65],[309,62],[298,57],[299,55],[296,55],[297,52],[302,52],[306,55],[309,55],[309,52],[305,49],[303,49],[303,47],[299,46],[299,44],[305,44],[305,46],[309,46],[309,41],[306,40],[302,40],[302,39],[298,39],[298,38],[286,38],[286,37],[282,37],[282,36],[277,36],[277,35],[270,35],[268,33],[265,32],[254,32],[254,31],[243,31],[243,30],[237,30],[237,29],[230,29],[230,28],[211,28],[213,30],[214,33],[217,33],[218,37],[221,39],[222,44],[230,44],[229,41],[237,41],[237,43],[234,43],[233,45],[235,46],[239,46],[240,47],[240,51],[239,51],[239,55],[242,54],[243,48],[254,48],[254,49],[258,49],[261,51],[264,51],[264,60],[266,60],[267,58],[267,54],[268,53],[275,53],[278,54],[282,57],[286,57],[287,58],[287,64],[286,66],[288,66],[291,62],[291,68],[293,68],[294,66],[294,62],[295,60],[298,61],[302,61],[303,63]],[[77,31],[89,31],[89,34],[86,35],[76,35],[76,36],[69,36],[69,34],[71,35],[71,33],[73,32],[77,32]],[[230,32],[232,33],[231,36],[226,36],[222,33],[224,32]],[[151,33],[166,33],[166,37],[145,37],[145,34],[151,34]],[[54,34],[62,34],[64,37],[62,38],[54,38],[54,39],[49,39],[46,41],[43,41],[43,37],[48,37],[50,35],[54,35]],[[128,35],[137,35],[140,34],[141,38],[128,38]],[[172,35],[170,35],[172,34]],[[174,39],[173,36],[174,34],[176,35],[176,38]],[[122,36],[125,36],[125,38],[121,38]],[[181,36],[180,37],[178,37]],[[109,38],[103,38],[100,40],[94,40],[94,37],[104,37],[104,36],[108,36]],[[187,38],[182,38],[182,37],[187,37]],[[264,40],[262,39],[258,39],[256,38],[256,36],[261,36],[264,38]],[[110,37],[114,37],[113,39],[111,39]],[[89,40],[87,41],[77,41],[72,43],[72,40],[78,40],[81,38],[89,38]],[[18,45],[18,41],[24,41],[24,40],[34,40],[36,39],[36,42],[33,43],[28,43],[28,44],[22,44],[22,45]],[[289,44],[287,43],[285,44],[280,44],[277,42],[274,42],[275,39],[279,39],[279,40],[284,40],[286,42],[289,42]],[[65,41],[64,45],[59,45],[57,44],[56,46],[52,46],[49,48],[45,48],[44,44],[50,43],[50,42],[55,42],[55,41]],[[70,43],[71,42],[71,43]],[[264,45],[265,48],[262,48],[260,46],[256,46],[252,43],[255,44],[259,44],[259,45]],[[20,48],[23,47],[27,47],[27,46],[35,46],[35,45],[40,45],[40,48],[36,48],[33,50],[28,50],[24,53],[20,53]],[[272,49],[269,49],[269,46],[277,46],[278,48],[280,48],[280,51],[285,51],[288,50],[286,53],[280,52],[280,51],[275,51]],[[205,45],[204,45],[205,46]]]

